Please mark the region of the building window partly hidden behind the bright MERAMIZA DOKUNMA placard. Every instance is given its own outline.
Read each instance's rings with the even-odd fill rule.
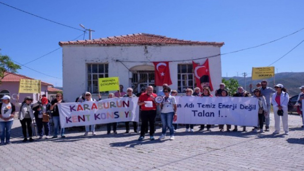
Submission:
[[[87,64],[88,68],[88,88],[91,93],[98,93],[98,78],[109,77],[108,64]],[[107,92],[102,92],[107,93]]]

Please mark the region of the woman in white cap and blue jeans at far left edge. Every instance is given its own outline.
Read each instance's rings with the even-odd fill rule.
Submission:
[[[11,137],[11,128],[14,121],[15,105],[10,102],[10,96],[3,96],[0,103],[0,145],[11,144],[9,138]],[[4,143],[4,140],[6,141]]]

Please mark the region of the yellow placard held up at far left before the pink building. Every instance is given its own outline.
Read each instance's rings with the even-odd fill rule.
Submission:
[[[20,79],[19,93],[41,93],[41,80]]]

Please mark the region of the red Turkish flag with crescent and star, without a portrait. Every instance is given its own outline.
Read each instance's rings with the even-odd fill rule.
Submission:
[[[153,62],[155,70],[155,85],[171,85],[169,62]]]

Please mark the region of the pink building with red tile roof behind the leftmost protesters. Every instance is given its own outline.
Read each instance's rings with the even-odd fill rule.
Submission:
[[[20,79],[33,79],[29,78],[25,75],[20,75],[20,74],[14,74],[14,73],[9,73],[5,72],[6,75],[3,79],[1,79],[1,85],[0,85],[0,98],[3,97],[4,95],[9,95],[11,97],[11,102],[15,103],[16,102],[16,96],[19,91],[19,82]],[[41,81],[41,94],[48,94],[47,88],[49,86],[53,86],[52,84],[42,82]],[[33,98],[34,103],[37,102],[39,98],[39,94],[29,94],[29,93],[20,93],[20,100],[19,102],[22,102],[22,100],[26,96],[30,96]]]

